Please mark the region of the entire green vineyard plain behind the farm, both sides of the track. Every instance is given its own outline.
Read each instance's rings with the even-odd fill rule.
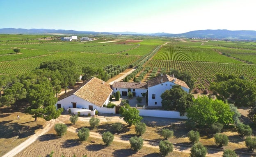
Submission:
[[[51,37],[53,40],[42,40]],[[160,50],[144,67],[187,71],[195,88],[208,88],[216,73],[244,75],[256,84],[256,43],[217,40],[156,38],[143,36],[102,37],[88,42],[62,42],[60,36],[0,35],[0,74],[23,74],[41,62],[71,59],[80,72],[83,66],[97,68],[109,64],[130,65],[149,55],[156,46]],[[106,42],[121,39],[116,42]],[[125,42],[126,40],[142,40]],[[101,43],[105,42],[105,43]],[[16,54],[13,49],[21,49]]]

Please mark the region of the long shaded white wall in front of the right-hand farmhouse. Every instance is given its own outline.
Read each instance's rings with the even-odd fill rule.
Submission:
[[[148,109],[138,109],[138,110],[139,110],[140,116],[187,119],[187,116],[181,117],[180,112],[178,111],[148,110]]]

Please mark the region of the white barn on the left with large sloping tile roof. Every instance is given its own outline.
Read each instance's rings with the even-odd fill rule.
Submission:
[[[97,77],[93,77],[91,80],[81,84],[72,91],[59,97],[57,108],[64,108],[64,110],[71,109],[71,113],[80,112],[81,115],[94,115],[95,110],[99,112],[105,111],[105,113],[113,113],[114,111],[108,112],[107,108],[102,108],[110,102],[110,95],[112,89],[110,84],[104,82]]]

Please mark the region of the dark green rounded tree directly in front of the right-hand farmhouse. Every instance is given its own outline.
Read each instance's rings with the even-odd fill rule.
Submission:
[[[185,92],[181,86],[174,85],[170,90],[162,93],[161,98],[165,110],[176,110],[184,116],[186,109],[192,106],[194,96]]]

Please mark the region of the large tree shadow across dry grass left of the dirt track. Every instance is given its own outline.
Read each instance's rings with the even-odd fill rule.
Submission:
[[[21,125],[18,124],[18,122],[14,122],[14,123],[10,123],[12,120],[10,121],[3,121],[0,122],[0,138],[12,138],[15,136],[18,136],[18,138],[26,138],[30,135],[34,135],[35,134],[35,130],[42,128],[42,125],[37,125],[37,126],[25,126],[25,125]],[[32,121],[34,122],[34,121]],[[22,124],[26,124],[26,123],[30,123],[30,122],[25,122]]]

